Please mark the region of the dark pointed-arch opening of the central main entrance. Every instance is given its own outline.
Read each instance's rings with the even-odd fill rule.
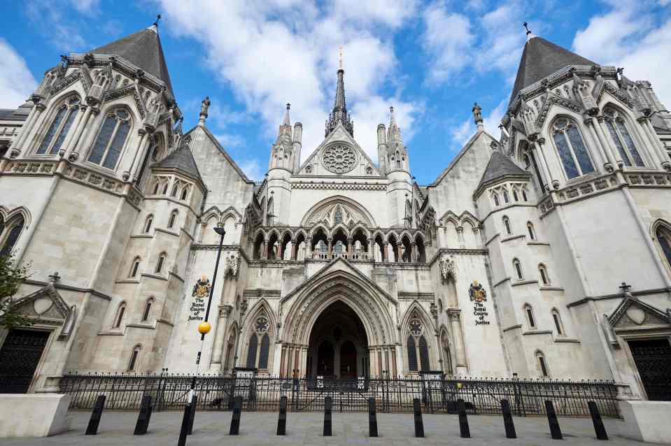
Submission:
[[[352,308],[342,301],[329,305],[310,333],[307,375],[355,378],[369,375],[366,330]]]

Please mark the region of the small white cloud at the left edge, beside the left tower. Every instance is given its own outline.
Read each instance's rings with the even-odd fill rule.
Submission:
[[[0,38],[0,108],[17,108],[36,87],[26,61]]]

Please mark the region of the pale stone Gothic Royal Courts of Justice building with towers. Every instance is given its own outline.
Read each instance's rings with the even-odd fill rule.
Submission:
[[[260,184],[209,131],[208,99],[183,131],[155,26],[64,57],[1,110],[0,247],[31,262],[14,305],[34,321],[0,333],[3,380],[237,366],[668,396],[671,115],[649,82],[530,35],[500,138],[475,106],[427,186],[393,109],[374,161],[342,69],[335,89],[318,147],[278,116]]]

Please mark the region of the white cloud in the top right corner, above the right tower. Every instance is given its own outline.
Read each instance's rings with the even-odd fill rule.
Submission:
[[[656,23],[654,13],[637,4],[625,3],[592,17],[586,29],[576,33],[573,48],[600,64],[623,67],[632,80],[649,80],[661,101],[669,104],[671,20]]]

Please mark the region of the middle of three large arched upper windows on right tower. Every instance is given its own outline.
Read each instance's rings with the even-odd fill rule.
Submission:
[[[567,117],[559,117],[552,125],[552,138],[566,177],[576,178],[594,171],[587,147],[578,130],[578,124]]]

